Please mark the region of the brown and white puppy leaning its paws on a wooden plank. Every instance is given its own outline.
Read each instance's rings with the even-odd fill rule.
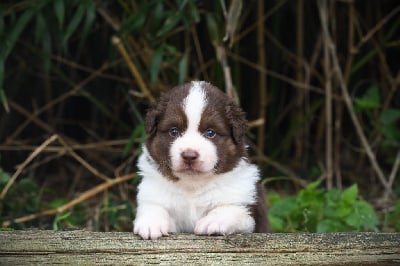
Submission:
[[[145,128],[135,234],[267,230],[259,170],[245,157],[246,120],[232,99],[193,81],[163,94]]]

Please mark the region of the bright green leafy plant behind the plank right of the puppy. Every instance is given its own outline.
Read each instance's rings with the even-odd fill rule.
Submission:
[[[378,217],[370,204],[358,200],[357,185],[340,192],[310,183],[296,196],[268,196],[268,218],[275,232],[377,231]]]

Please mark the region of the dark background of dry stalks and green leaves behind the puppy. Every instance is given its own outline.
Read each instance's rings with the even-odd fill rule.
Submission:
[[[276,231],[399,231],[399,14],[397,0],[1,1],[2,227],[130,231],[145,110],[204,79],[247,112]]]

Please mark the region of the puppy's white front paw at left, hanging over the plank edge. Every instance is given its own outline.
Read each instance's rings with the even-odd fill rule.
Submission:
[[[143,239],[158,239],[171,232],[170,217],[166,213],[144,213],[134,221],[133,232]]]

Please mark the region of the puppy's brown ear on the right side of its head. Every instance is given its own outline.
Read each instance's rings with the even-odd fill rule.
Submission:
[[[226,116],[232,129],[232,137],[236,144],[243,145],[247,130],[245,113],[233,101],[226,105]]]

